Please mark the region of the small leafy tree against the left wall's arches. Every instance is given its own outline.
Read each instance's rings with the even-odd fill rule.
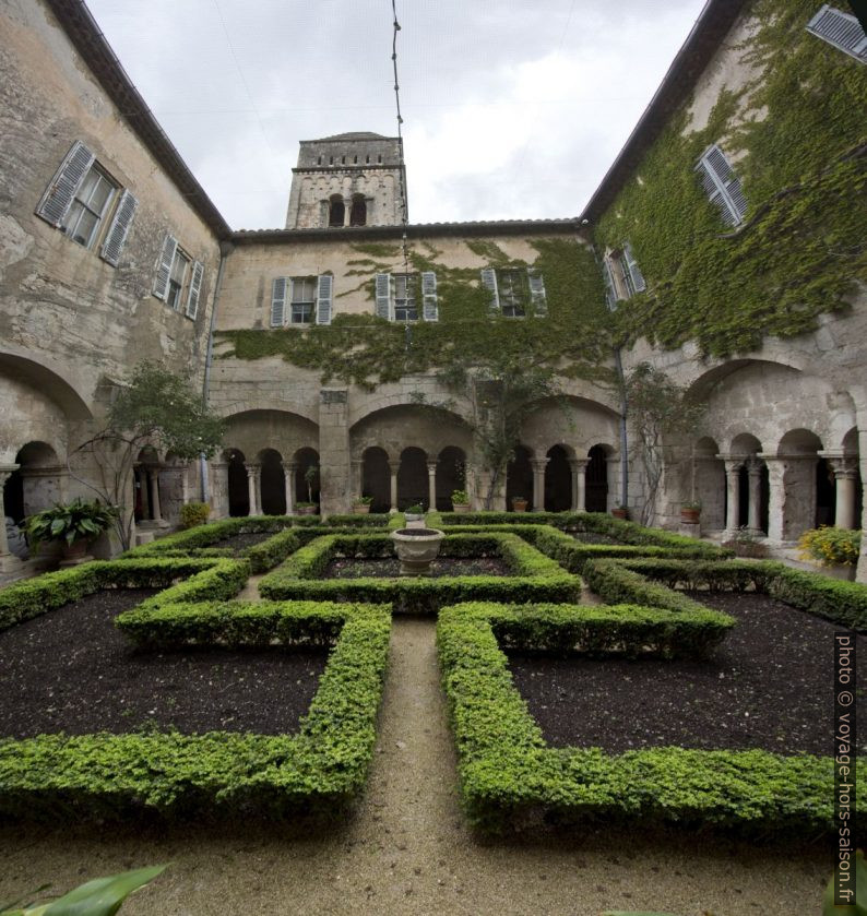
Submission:
[[[144,361],[118,391],[104,428],[70,453],[68,465],[76,480],[118,509],[115,525],[126,550],[133,520],[127,500],[141,450],[151,445],[192,461],[200,455],[211,457],[222,438],[223,420],[204,406],[188,378]],[[90,477],[91,467],[96,468],[97,479]]]

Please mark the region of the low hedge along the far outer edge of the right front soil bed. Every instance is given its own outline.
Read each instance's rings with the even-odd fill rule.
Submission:
[[[629,576],[640,575],[656,580],[657,583],[646,583],[648,587],[666,588],[680,585],[684,588],[710,588],[713,591],[744,592],[755,588],[777,598],[781,602],[851,627],[858,632],[867,631],[867,585],[858,582],[845,582],[831,579],[818,572],[804,572],[792,569],[783,563],[745,560],[728,560],[726,562],[700,562],[672,559],[628,560],[621,564]],[[602,568],[602,573],[599,569]],[[584,568],[584,575],[594,591],[594,576],[602,574],[610,578],[606,572],[607,561],[589,563]],[[630,581],[633,581],[630,579]],[[610,600],[613,592],[599,594]],[[617,600],[640,600],[638,597],[625,598],[623,592],[617,593]],[[629,594],[637,595],[636,592]],[[678,596],[681,598],[682,596]],[[641,599],[643,600],[643,599]],[[668,607],[669,605],[656,605]]]

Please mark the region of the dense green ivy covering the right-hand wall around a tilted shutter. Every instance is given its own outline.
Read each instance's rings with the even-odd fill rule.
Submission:
[[[708,126],[673,118],[599,221],[599,246],[630,241],[648,290],[617,310],[620,341],[688,340],[724,357],[767,335],[810,331],[867,281],[867,68],[809,35],[813,0],[758,0],[758,69],[724,91]],[[743,151],[734,167],[749,202],[726,231],[694,165],[711,143]]]

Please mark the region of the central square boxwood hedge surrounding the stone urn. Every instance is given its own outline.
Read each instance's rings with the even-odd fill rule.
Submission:
[[[319,576],[337,554],[393,556],[388,535],[331,535],[317,538],[294,554],[259,583],[259,593],[274,600],[349,600],[392,603],[397,612],[436,614],[446,604],[464,600],[574,602],[581,580],[566,572],[514,534],[449,535],[440,554],[452,557],[499,555],[512,575],[459,575],[437,579],[326,579]]]

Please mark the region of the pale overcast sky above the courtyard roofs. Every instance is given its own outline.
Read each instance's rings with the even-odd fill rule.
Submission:
[[[233,228],[298,141],[396,133],[390,0],[87,0]],[[397,0],[413,223],[578,215],[703,0]]]

